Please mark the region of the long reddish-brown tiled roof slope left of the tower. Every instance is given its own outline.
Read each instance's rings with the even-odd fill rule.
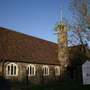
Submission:
[[[0,28],[0,60],[59,64],[57,44]]]

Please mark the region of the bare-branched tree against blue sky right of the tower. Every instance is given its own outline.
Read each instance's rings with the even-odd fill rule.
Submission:
[[[85,44],[90,41],[90,0],[71,0],[70,9],[74,23],[70,25],[70,43]],[[72,38],[71,38],[72,37]]]

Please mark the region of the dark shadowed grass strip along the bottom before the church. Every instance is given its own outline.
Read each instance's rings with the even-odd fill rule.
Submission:
[[[16,86],[12,87],[10,81],[0,78],[0,90],[90,90],[90,85],[83,86],[75,80],[54,81],[43,85],[28,85],[28,87],[18,83]]]

